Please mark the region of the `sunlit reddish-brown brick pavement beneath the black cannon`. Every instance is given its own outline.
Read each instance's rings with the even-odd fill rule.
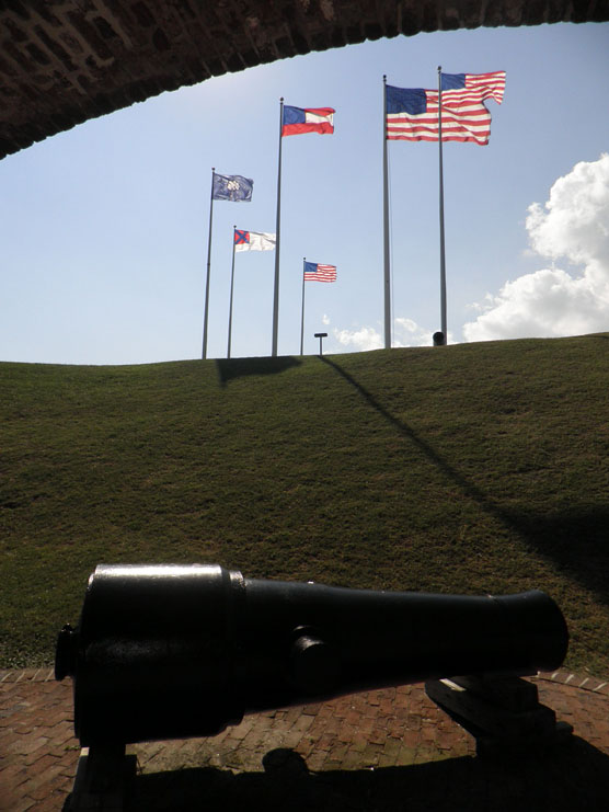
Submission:
[[[422,685],[245,717],[212,739],[134,745],[130,809],[609,810],[609,685],[536,678],[573,740],[526,757],[474,757]],[[0,672],[0,811],[61,810],[80,753],[70,681]]]

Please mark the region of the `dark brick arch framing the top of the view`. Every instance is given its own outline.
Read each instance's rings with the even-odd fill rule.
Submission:
[[[0,158],[164,90],[313,50],[607,20],[608,0],[0,0]]]

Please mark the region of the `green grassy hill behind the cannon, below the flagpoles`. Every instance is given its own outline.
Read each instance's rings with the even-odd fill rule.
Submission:
[[[609,675],[609,335],[128,367],[0,364],[0,667],[97,563],[538,587]]]

